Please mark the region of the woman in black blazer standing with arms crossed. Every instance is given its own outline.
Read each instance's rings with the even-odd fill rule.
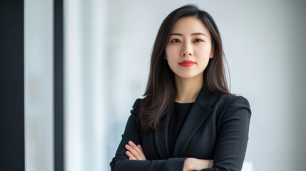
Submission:
[[[250,105],[228,90],[220,33],[208,13],[188,5],[165,18],[144,96],[111,170],[241,170]]]

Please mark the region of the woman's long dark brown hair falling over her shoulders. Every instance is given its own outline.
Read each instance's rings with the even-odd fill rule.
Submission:
[[[170,37],[170,32],[178,19],[193,16],[208,28],[211,35],[211,44],[214,51],[204,72],[204,88],[210,93],[230,94],[223,66],[223,48],[220,33],[213,18],[206,11],[198,9],[195,5],[182,6],[171,12],[161,24],[155,39],[151,56],[151,68],[138,118],[143,130],[158,128],[160,118],[173,107],[176,97],[174,73],[164,59],[165,46]]]

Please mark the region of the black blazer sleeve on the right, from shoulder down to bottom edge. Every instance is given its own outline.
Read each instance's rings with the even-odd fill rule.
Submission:
[[[235,98],[220,120],[213,168],[203,171],[241,170],[248,144],[251,110],[248,100]]]

